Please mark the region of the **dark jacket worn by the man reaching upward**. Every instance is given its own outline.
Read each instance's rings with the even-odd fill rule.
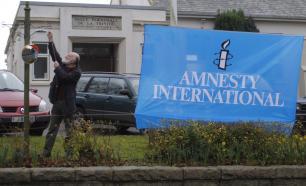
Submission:
[[[79,69],[79,62],[75,69],[68,69],[62,62],[62,58],[57,52],[53,42],[49,42],[49,52],[53,61],[57,61],[60,66],[55,68],[55,76],[51,82],[49,90],[49,100],[54,104],[58,100],[59,88],[63,91],[65,108],[64,115],[72,116],[76,111],[76,84],[81,77],[81,71]]]

